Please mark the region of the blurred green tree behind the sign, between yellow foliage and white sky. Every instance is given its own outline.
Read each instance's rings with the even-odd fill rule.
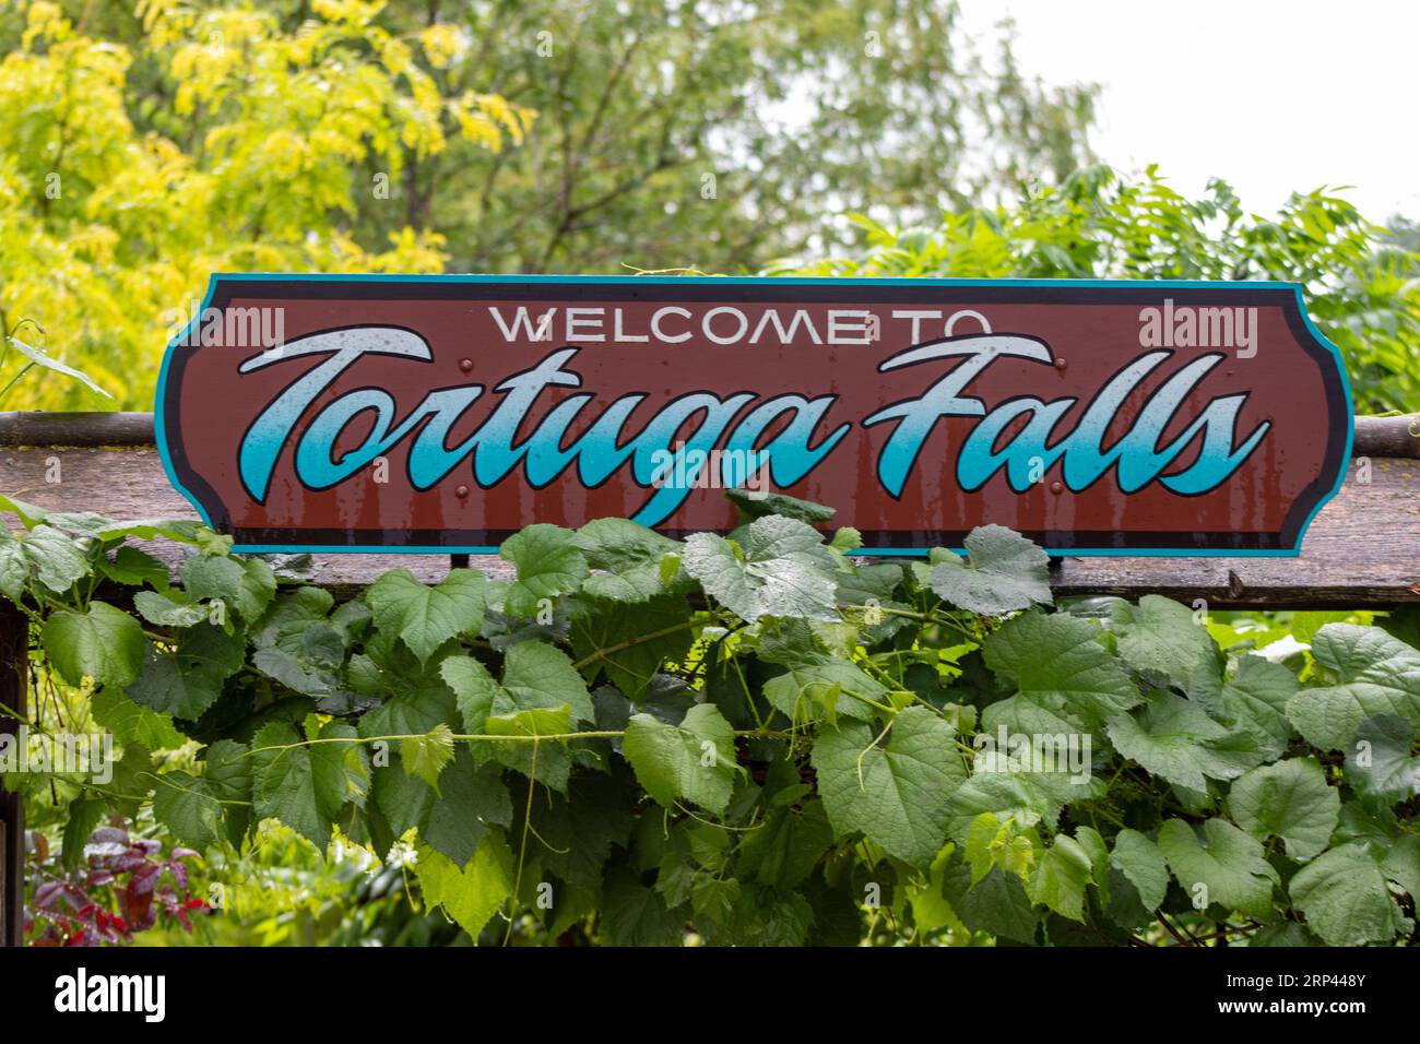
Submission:
[[[1089,87],[1025,78],[950,0],[476,0],[444,21],[446,92],[535,109],[521,149],[405,166],[405,220],[469,271],[753,271],[842,246],[845,212],[893,220],[1055,182],[1086,159]],[[383,216],[369,210],[365,227]]]

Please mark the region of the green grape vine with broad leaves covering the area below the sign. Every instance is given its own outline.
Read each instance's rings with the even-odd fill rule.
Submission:
[[[733,499],[726,537],[537,524],[510,581],[348,601],[195,523],[0,499],[27,724],[84,727],[62,690],[119,754],[0,768],[209,859],[271,820],[365,849],[491,945],[1416,940],[1413,615],[1258,648],[1163,597],[1055,605],[998,526],[869,561],[828,509]]]

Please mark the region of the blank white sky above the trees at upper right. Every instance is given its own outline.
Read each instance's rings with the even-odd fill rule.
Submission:
[[[1210,176],[1269,212],[1321,185],[1383,222],[1420,219],[1416,0],[961,0],[981,38],[1005,16],[1048,84],[1102,85],[1092,142],[1115,166]]]

